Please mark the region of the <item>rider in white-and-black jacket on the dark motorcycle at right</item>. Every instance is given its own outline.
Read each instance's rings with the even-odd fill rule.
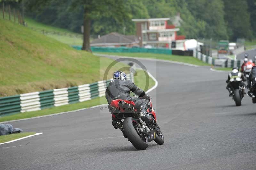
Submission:
[[[226,80],[226,83],[228,83],[226,89],[229,91],[229,96],[233,95],[233,89],[232,89],[233,81],[239,81],[240,83],[239,86],[245,86],[243,81],[246,81],[246,80],[247,80],[246,77],[244,77],[244,74],[239,71],[238,67],[232,68],[232,71],[228,73],[228,79]]]

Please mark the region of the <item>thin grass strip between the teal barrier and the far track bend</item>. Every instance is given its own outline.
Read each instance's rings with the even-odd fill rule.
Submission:
[[[115,53],[115,52],[95,52],[95,53],[115,55],[115,56],[162,59],[162,60],[184,62],[184,63],[194,64],[198,66],[210,66],[209,64],[204,63],[192,56],[178,56],[178,55],[155,54],[155,53]]]

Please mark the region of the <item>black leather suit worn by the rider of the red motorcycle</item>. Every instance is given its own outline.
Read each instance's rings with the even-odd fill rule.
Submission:
[[[142,98],[135,98],[130,96],[130,92],[135,93],[139,97]],[[145,92],[138,88],[131,80],[120,80],[114,79],[110,81],[107,89],[106,89],[106,99],[108,104],[111,103],[112,100],[115,99],[123,99],[123,100],[130,100],[135,103],[136,108],[140,108],[140,112],[147,113],[147,109],[149,107],[148,100],[145,98],[147,95]],[[121,121],[121,119],[116,118],[115,115],[112,114],[112,124],[117,121]]]

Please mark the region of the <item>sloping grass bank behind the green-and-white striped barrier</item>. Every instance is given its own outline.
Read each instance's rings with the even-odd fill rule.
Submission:
[[[100,81],[112,62],[0,19],[0,97]]]

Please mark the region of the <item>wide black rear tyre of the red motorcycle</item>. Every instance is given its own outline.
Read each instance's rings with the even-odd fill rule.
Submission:
[[[134,127],[136,124],[138,124],[138,121],[136,119],[132,117],[127,117],[123,122],[124,132],[128,140],[137,150],[144,150],[148,147],[148,137],[141,137],[138,134],[137,130]],[[144,141],[142,140],[142,138]]]

